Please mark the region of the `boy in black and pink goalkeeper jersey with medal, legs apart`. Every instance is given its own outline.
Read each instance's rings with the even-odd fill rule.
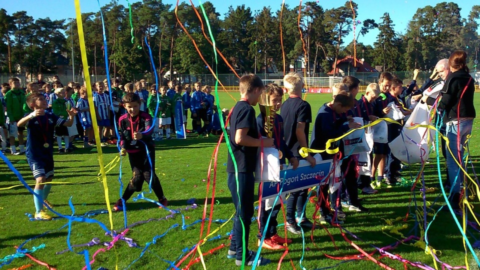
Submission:
[[[151,189],[158,198],[160,204],[166,206],[167,200],[163,195],[160,181],[155,174],[155,145],[151,138],[151,116],[140,111],[140,98],[134,93],[123,96],[123,104],[126,114],[120,116],[118,129],[120,130],[120,154],[128,153],[133,177],[125,188],[121,198],[113,206],[114,211],[123,210],[123,201],[128,200],[133,193],[141,191],[143,181],[151,183]],[[148,154],[146,152],[148,149]],[[151,162],[151,166],[150,166]]]

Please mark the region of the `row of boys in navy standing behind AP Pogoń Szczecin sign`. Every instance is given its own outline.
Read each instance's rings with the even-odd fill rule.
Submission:
[[[257,151],[260,147],[274,147],[279,153],[280,164],[285,164],[285,159],[295,169],[298,167],[298,160],[306,160],[312,167],[316,159],[312,154],[302,158],[299,155],[300,148],[306,147],[315,150],[339,149],[337,153],[331,151],[320,153],[322,160],[341,160],[340,179],[341,185],[337,191],[330,192],[328,185],[318,187],[319,216],[313,216],[317,223],[327,225],[330,223],[343,223],[346,214],[342,209],[356,212],[369,212],[358,197],[359,191],[362,194],[375,194],[378,192],[375,187],[382,182],[386,185],[394,185],[401,181],[400,161],[390,153],[388,143],[374,143],[370,159],[370,175],[359,175],[358,154],[349,154],[344,151],[343,141],[335,140],[329,146],[326,145],[330,139],[341,137],[351,129],[367,125],[379,118],[389,117],[389,111],[394,108],[405,116],[411,112],[405,108],[405,99],[416,99],[416,95],[422,93],[425,87],[438,78],[433,72],[430,80],[420,89],[416,89],[416,76],[418,70],[414,71],[413,81],[408,87],[403,87],[403,82],[388,72],[380,75],[378,84],[369,84],[363,95],[357,97],[360,81],[352,76],[346,76],[341,83],[332,86],[332,100],[320,106],[315,117],[312,117],[311,107],[307,101],[301,98],[304,88],[303,78],[298,73],[289,73],[283,78],[283,88],[288,93],[288,98],[282,104],[283,89],[276,84],[263,85],[261,80],[253,75],[245,75],[240,78],[241,100],[233,107],[230,117],[229,144],[231,146],[237,170],[233,167],[233,159],[228,155],[227,174],[228,188],[230,189],[232,201],[235,205],[236,214],[233,221],[233,234],[230,241],[230,248],[227,258],[236,259],[236,265],[242,264],[242,252],[245,252],[245,265],[255,263],[255,252],[248,248],[243,249],[243,240],[248,242],[248,231],[250,218],[253,215],[254,197],[254,164],[258,163],[260,155]],[[270,104],[273,106],[274,128],[272,138],[265,138],[264,124],[266,119],[258,114],[255,125],[255,110],[253,106],[258,103],[260,94],[265,91],[270,97]],[[200,95],[195,96],[200,99]],[[195,103],[197,104],[197,103]],[[393,105],[392,105],[393,104]],[[392,107],[393,106],[393,107]],[[281,110],[280,110],[281,107]],[[200,108],[195,107],[195,108]],[[280,114],[276,114],[280,110]],[[197,112],[197,111],[195,111]],[[199,113],[197,114],[197,116]],[[357,117],[363,123],[354,122]],[[201,117],[200,117],[201,118]],[[387,125],[388,142],[391,142],[400,134],[400,125]],[[309,125],[313,130],[309,134]],[[259,136],[262,137],[259,137]],[[310,135],[310,136],[309,136]],[[310,140],[308,138],[310,137]],[[259,139],[262,138],[262,139]],[[327,149],[326,149],[327,148]],[[246,161],[250,162],[246,162]],[[280,165],[282,166],[282,165]],[[235,172],[237,176],[235,178]],[[378,174],[378,176],[376,176]],[[305,214],[307,195],[309,190],[304,189],[287,194],[286,200],[286,229],[293,234],[300,234],[302,228],[311,229],[313,223]],[[241,205],[241,207],[240,207]],[[268,249],[283,249],[285,243],[291,240],[282,238],[276,233],[276,216],[279,205],[270,207],[264,206],[259,210],[259,232],[258,239],[262,236],[264,241],[262,247]],[[270,216],[269,224],[267,223]],[[241,222],[245,226],[245,234],[242,234]],[[263,235],[265,233],[265,235]],[[248,244],[245,243],[245,246]],[[260,245],[260,241],[258,241]],[[257,265],[267,264],[269,260],[258,257]]]

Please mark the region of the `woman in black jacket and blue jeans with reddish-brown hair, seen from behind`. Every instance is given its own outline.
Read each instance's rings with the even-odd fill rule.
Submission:
[[[473,94],[475,92],[474,80],[468,74],[466,66],[466,53],[455,51],[448,59],[450,74],[446,78],[442,89],[438,109],[444,111],[443,123],[446,124],[446,137],[449,140],[446,151],[446,166],[448,168],[450,185],[450,202],[453,209],[459,208],[460,184],[463,183],[463,172],[456,161],[465,168],[463,159],[463,145],[471,133],[475,108],[473,107]],[[431,98],[422,98],[422,101],[431,102]]]

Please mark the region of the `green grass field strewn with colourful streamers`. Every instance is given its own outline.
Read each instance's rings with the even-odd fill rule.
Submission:
[[[234,95],[238,97],[237,94]],[[311,104],[313,114],[318,108],[329,99],[328,94],[309,94],[306,100]],[[238,98],[237,98],[238,99]],[[480,98],[476,96],[475,107],[478,108]],[[222,108],[231,108],[234,101],[225,93],[220,93],[220,105]],[[257,109],[258,112],[258,109]],[[474,167],[478,169],[480,152],[476,148],[480,140],[478,139],[478,127],[480,123],[475,120],[473,125],[473,136],[470,143],[470,150],[472,162]],[[184,210],[182,213],[185,216],[185,223],[190,224],[202,216],[203,201],[206,195],[206,182],[202,179],[207,178],[208,164],[210,156],[214,150],[217,139],[215,138],[193,138],[189,137],[187,140],[168,140],[161,141],[156,146],[156,173],[160,178],[161,184],[168,198],[169,207],[172,209],[185,208],[187,200],[195,198],[199,207],[191,210]],[[76,142],[78,144],[78,142]],[[78,145],[79,146],[79,145]],[[116,155],[116,148],[113,146],[103,147],[104,155],[103,161],[108,163]],[[214,219],[228,219],[233,213],[234,208],[231,203],[230,193],[226,185],[226,173],[224,163],[226,162],[227,150],[226,146],[220,146],[217,163],[217,184],[215,191],[214,205]],[[434,155],[432,155],[433,157]],[[26,163],[21,163],[24,156],[7,156],[14,164],[15,168],[22,174],[22,176],[29,183],[33,183],[31,172]],[[48,200],[54,204],[54,209],[64,215],[71,215],[71,210],[68,206],[68,199],[72,197],[71,201],[75,206],[75,215],[81,215],[87,211],[106,209],[104,191],[102,183],[96,180],[99,171],[98,156],[96,152],[90,152],[83,149],[78,149],[74,153],[59,155],[55,152],[55,177],[54,181],[62,182],[88,182],[80,185],[53,185]],[[425,167],[425,182],[427,187],[438,187],[439,181],[436,174],[436,159],[431,159],[431,163]],[[19,162],[20,161],[20,162]],[[441,164],[444,163],[440,155]],[[119,165],[119,164],[118,164]],[[107,175],[108,181],[108,195],[111,205],[119,197],[119,182],[118,173],[119,166],[111,170]],[[405,178],[415,176],[419,171],[419,166],[409,166],[408,169],[403,170]],[[128,183],[131,177],[131,171],[128,165],[128,159],[122,159],[122,181],[124,184]],[[444,172],[442,172],[444,177]],[[183,179],[183,180],[182,180]],[[16,176],[7,168],[2,162],[0,164],[0,188],[9,187],[11,185],[19,184]],[[146,185],[144,190],[148,191]],[[433,202],[439,193],[427,193],[427,201]],[[136,194],[135,194],[136,195]],[[386,223],[382,219],[391,219],[399,216],[405,216],[409,211],[414,213],[414,205],[410,205],[409,199],[412,193],[406,187],[380,188],[380,192],[376,195],[361,197],[364,198],[363,204],[371,209],[369,214],[358,214],[347,212],[346,222],[344,228],[356,234],[361,240],[355,239],[354,242],[367,252],[372,252],[374,248],[370,244],[377,247],[383,247],[396,242],[394,238],[400,238],[399,235],[389,233],[391,229],[384,231],[390,236],[382,232],[382,227]],[[418,189],[415,190],[416,198],[420,196]],[[156,199],[154,194],[145,194],[146,197]],[[420,199],[421,200],[421,199]],[[478,201],[478,198],[475,198]],[[438,202],[442,202],[440,198]],[[420,203],[420,202],[419,202]],[[476,208],[478,204],[475,204]],[[85,265],[82,255],[74,252],[65,252],[63,254],[55,254],[67,248],[67,227],[59,229],[67,223],[66,219],[56,219],[53,221],[29,221],[25,213],[33,213],[34,207],[32,202],[32,195],[24,187],[15,187],[8,190],[0,190],[0,259],[6,255],[15,253],[15,245],[21,244],[23,241],[42,234],[46,231],[50,233],[38,237],[25,244],[24,248],[31,249],[33,246],[45,244],[45,247],[38,249],[32,255],[44,262],[49,263],[56,269],[79,269]],[[146,220],[149,218],[165,217],[169,213],[164,209],[158,209],[154,204],[139,200],[127,203],[127,223],[132,224],[137,221]],[[307,205],[307,215],[311,217],[313,211],[313,204]],[[435,206],[435,209],[438,208]],[[476,209],[475,208],[475,209]],[[208,206],[209,209],[209,206]],[[208,212],[207,212],[208,214]],[[411,217],[411,214],[410,214]],[[100,214],[92,216],[100,222],[103,222],[109,227],[108,214]],[[281,215],[278,217],[279,223],[282,223]],[[411,219],[411,218],[410,218]],[[428,217],[428,221],[431,217]],[[473,221],[473,220],[472,220]],[[113,213],[113,227],[117,231],[123,230],[123,214]],[[474,222],[474,221],[473,221]],[[151,242],[153,237],[161,235],[173,224],[180,226],[172,228],[163,237],[158,238],[154,244],[150,244],[148,252],[138,259],[130,266],[131,269],[166,269],[169,264],[164,260],[174,261],[181,254],[182,249],[191,247],[199,239],[200,223],[196,223],[186,229],[181,228],[181,217],[176,215],[174,218],[161,221],[151,221],[145,224],[133,226],[129,229],[126,236],[132,238],[138,247],[128,247],[124,241],[118,241],[114,248],[100,252],[95,257],[95,262],[92,264],[92,269],[97,269],[103,266],[108,269],[115,269],[115,265],[119,269],[127,267],[134,259],[140,256],[142,249],[147,242]],[[419,228],[414,227],[413,221],[396,222],[395,226],[406,224],[407,228],[400,230],[405,236],[416,234],[419,235]],[[219,223],[212,223],[212,229],[217,228]],[[205,227],[206,228],[206,227]],[[58,230],[59,229],[59,230]],[[202,246],[202,251],[219,246],[221,243],[228,244],[226,233],[231,229],[231,223],[225,225],[220,229],[216,235],[221,235],[220,239],[215,239],[206,242]],[[410,233],[409,231],[412,230]],[[283,235],[283,228],[279,229],[280,235]],[[334,244],[326,231],[322,228],[317,228],[313,231],[314,244],[310,240],[309,233],[305,235],[306,250],[303,257],[302,266],[306,269],[317,269],[321,267],[332,266],[340,262],[327,258],[324,254],[332,256],[345,256],[357,254],[340,235],[338,228],[328,227],[335,240]],[[256,221],[252,223],[250,232],[249,247],[256,249],[257,232]],[[478,233],[471,231],[470,241],[473,243],[475,238],[478,238]],[[70,242],[74,244],[83,244],[98,237],[101,241],[111,241],[110,236],[105,236],[104,231],[96,224],[87,224],[84,222],[74,222],[71,226]],[[281,269],[292,269],[290,259],[294,267],[300,269],[299,261],[302,255],[302,239],[295,235],[288,235],[293,239],[293,243],[289,246],[289,255],[287,255],[282,264]],[[351,240],[353,238],[349,235],[347,237]],[[475,238],[474,238],[475,237]],[[255,239],[254,239],[255,238]],[[464,251],[462,245],[462,237],[458,228],[454,225],[453,219],[449,213],[440,212],[428,231],[428,239],[430,245],[441,250],[439,258],[453,266],[465,265]],[[88,249],[91,255],[98,249],[105,246],[95,245],[92,247],[76,247],[75,252],[80,252],[84,248]],[[421,261],[433,266],[432,258],[418,247],[410,245],[399,245],[396,249],[391,250],[391,253],[400,254],[403,258],[410,261]],[[204,256],[207,269],[235,269],[234,262],[226,259],[226,247],[220,248],[213,254]],[[271,251],[262,249],[262,254],[270,258],[272,263],[268,266],[261,267],[263,269],[276,269],[277,262],[282,254],[279,251]],[[196,253],[195,256],[198,254]],[[378,253],[375,258],[378,258]],[[160,259],[161,258],[161,259]],[[187,260],[188,261],[188,260]],[[381,261],[395,269],[403,268],[401,262],[382,258]],[[12,267],[19,267],[24,264],[33,263],[34,267],[31,269],[44,268],[38,266],[27,257],[15,258],[11,264],[3,266],[2,268],[10,269]],[[183,263],[184,267],[186,263]],[[472,268],[475,268],[475,265]],[[372,269],[377,267],[369,260],[354,260],[338,265],[337,269]],[[191,269],[201,269],[201,263],[196,263],[191,266]],[[248,267],[247,267],[248,268]]]

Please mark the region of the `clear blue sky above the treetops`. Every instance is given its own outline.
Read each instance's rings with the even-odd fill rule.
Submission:
[[[65,18],[73,18],[75,16],[75,7],[73,0],[1,0],[0,8],[7,11],[8,14],[13,14],[20,10],[26,10],[29,16],[35,19],[49,17],[52,20],[59,20]],[[131,3],[137,2],[132,0]],[[192,1],[195,5],[198,5],[198,1]],[[257,0],[243,0],[239,2],[230,2],[224,0],[211,0],[217,12],[221,14],[221,17],[228,11],[228,6],[244,4],[250,7],[252,11],[260,10],[263,6],[270,6],[273,11],[279,10],[281,7],[281,1],[257,1]],[[344,3],[344,0],[340,1],[316,1],[324,9],[336,8]],[[380,21],[380,17],[383,13],[388,12],[390,18],[395,25],[394,30],[400,33],[404,33],[408,25],[408,21],[411,20],[418,8],[425,6],[435,6],[442,1],[430,1],[430,0],[356,0],[358,4],[358,20],[363,21],[365,19],[374,19],[375,22]],[[448,2],[448,1],[446,1]],[[103,6],[109,3],[109,0],[100,0],[100,5]],[[119,0],[119,4],[127,6],[126,0]],[[166,0],[163,3],[175,5],[176,1]],[[305,1],[303,2],[305,3]],[[385,3],[388,3],[385,5]],[[461,17],[466,18],[470,13],[471,7],[474,5],[480,5],[480,2],[475,0],[461,0],[456,1],[461,8]],[[298,7],[299,0],[285,0],[285,4],[288,4],[290,8]],[[98,3],[95,0],[81,0],[80,1],[81,12],[96,12],[98,11]],[[133,11],[134,12],[134,11]],[[372,45],[376,41],[377,30],[370,31],[364,37],[360,37],[358,42]],[[352,34],[344,39],[345,45],[352,40]]]

